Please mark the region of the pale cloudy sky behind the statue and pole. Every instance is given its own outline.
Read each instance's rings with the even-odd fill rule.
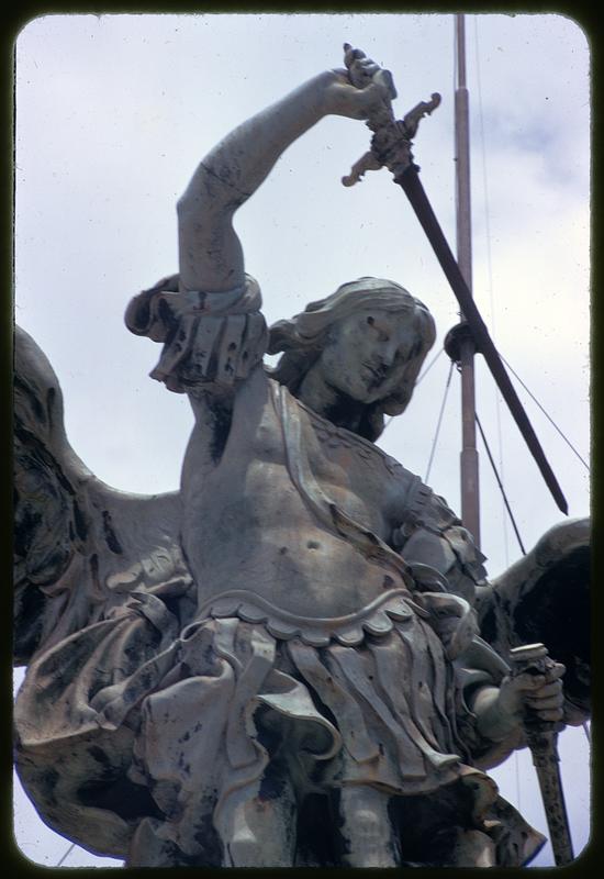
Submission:
[[[342,44],[388,67],[402,116],[432,92],[441,105],[415,138],[421,177],[455,248],[451,15],[56,15],[16,46],[16,321],[51,359],[77,454],[109,485],[178,487],[192,426],[184,397],[148,378],[159,348],[131,335],[131,296],[176,271],[175,203],[198,162],[237,123],[327,67]],[[467,16],[472,134],[473,287],[497,347],[581,455],[589,456],[589,44],[558,15]],[[346,189],[368,148],[362,123],[326,119],[297,142],[239,211],[246,269],[269,322],[342,282],[390,277],[435,315],[436,346],[455,298],[388,171]],[[380,445],[426,474],[448,374],[440,356]],[[478,413],[527,548],[562,519],[477,360]],[[517,387],[569,501],[589,513],[589,474]],[[501,437],[501,445],[500,445]],[[459,510],[459,379],[454,374],[429,483]],[[519,556],[481,453],[482,549],[496,575]],[[589,752],[561,736],[575,849],[589,830]],[[545,830],[526,755],[494,775]],[[67,843],[18,795],[30,857],[54,864]],[[47,834],[47,835],[46,835]],[[58,854],[57,854],[58,853]],[[79,858],[79,859],[78,859]],[[97,863],[75,852],[66,866]],[[115,864],[115,861],[112,861]],[[551,863],[548,848],[535,865]]]

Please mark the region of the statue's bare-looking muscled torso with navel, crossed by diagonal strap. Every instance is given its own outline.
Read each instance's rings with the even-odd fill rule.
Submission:
[[[257,369],[238,390],[219,461],[201,427],[189,444],[182,539],[200,603],[246,589],[301,615],[358,611],[385,589],[403,586],[402,579],[316,522],[288,470],[268,386]],[[322,431],[321,419],[302,407],[300,413],[305,455],[321,489],[388,543],[404,502],[401,480],[377,448],[351,434],[346,447]]]

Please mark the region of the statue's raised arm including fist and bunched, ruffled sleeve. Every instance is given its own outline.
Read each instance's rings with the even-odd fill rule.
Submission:
[[[133,333],[164,343],[150,375],[170,390],[224,397],[261,363],[268,338],[261,297],[244,274],[233,214],[324,115],[366,119],[390,100],[390,76],[378,65],[348,47],[345,62],[347,69],[320,74],[235,129],[200,163],[179,200],[179,274],[134,297],[125,314]]]

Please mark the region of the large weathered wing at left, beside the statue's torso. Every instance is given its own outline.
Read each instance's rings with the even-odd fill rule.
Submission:
[[[67,441],[57,377],[19,327],[14,496],[16,665],[141,593],[157,594],[177,616],[194,603],[179,493],[127,494],[90,472]]]

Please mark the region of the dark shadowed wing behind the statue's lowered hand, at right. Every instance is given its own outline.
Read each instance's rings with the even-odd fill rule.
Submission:
[[[561,522],[481,589],[478,605],[481,635],[501,656],[543,643],[564,664],[564,722],[571,725],[591,716],[590,557],[590,520]]]

